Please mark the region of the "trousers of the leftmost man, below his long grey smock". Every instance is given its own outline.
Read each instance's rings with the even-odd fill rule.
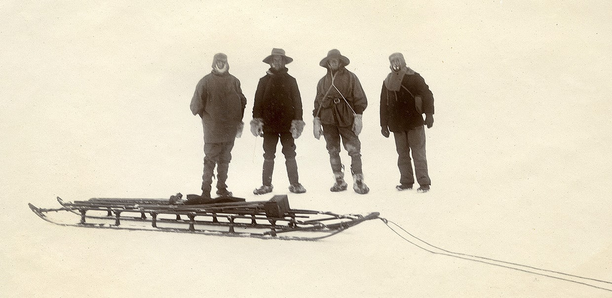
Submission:
[[[225,189],[228,187],[225,184],[225,181],[228,178],[232,148],[234,148],[234,139],[230,142],[204,143],[204,175],[202,176],[203,192],[211,191],[215,164],[217,165],[217,189]]]

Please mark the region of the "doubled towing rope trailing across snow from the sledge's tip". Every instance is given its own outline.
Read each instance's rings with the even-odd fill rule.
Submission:
[[[607,284],[612,285],[612,282],[608,282],[608,281],[605,281],[605,280],[598,280],[598,279],[589,278],[589,277],[581,277],[579,275],[567,274],[567,273],[559,272],[559,271],[552,271],[552,270],[548,270],[548,269],[542,269],[542,268],[527,266],[527,265],[518,264],[518,263],[512,263],[512,262],[501,261],[501,260],[495,260],[495,259],[492,259],[492,258],[485,258],[483,256],[469,255],[467,253],[451,252],[451,251],[446,250],[446,249],[441,249],[440,247],[437,247],[435,245],[429,244],[428,242],[418,238],[417,236],[414,236],[409,231],[406,231],[404,228],[400,227],[400,225],[395,224],[395,222],[392,222],[391,220],[383,219],[381,217],[379,217],[379,219],[381,219],[384,222],[384,224],[387,225],[387,227],[389,227],[390,230],[394,231],[395,234],[400,236],[400,238],[404,239],[405,241],[409,242],[410,244],[412,244],[412,245],[414,245],[416,247],[419,247],[419,249],[425,250],[426,252],[434,253],[436,255],[453,256],[455,258],[460,258],[460,259],[463,259],[463,260],[475,261],[475,262],[479,262],[479,263],[485,263],[485,264],[490,264],[490,265],[493,265],[493,266],[499,266],[499,267],[504,267],[504,268],[508,268],[508,269],[514,269],[514,270],[517,270],[517,271],[527,272],[527,273],[531,273],[531,274],[542,275],[542,276],[545,276],[545,277],[556,278],[558,280],[564,280],[565,282],[579,283],[581,285],[591,286],[592,288],[603,289],[605,291],[612,292],[612,289],[602,288],[600,286],[591,285],[591,284],[586,283],[586,282],[579,282],[577,280],[572,280],[572,279],[569,279],[569,278],[556,277],[556,276],[550,275],[550,274],[534,272],[534,271],[530,271],[529,269],[539,270],[539,271],[543,271],[543,272],[551,272],[551,273],[555,273],[555,274],[565,275],[567,277],[581,278],[583,280],[592,280],[594,282],[607,283]],[[398,233],[398,231],[396,231],[394,228],[392,228],[389,225],[389,223],[394,224],[396,227],[400,228],[402,231],[404,231],[406,234],[410,235],[412,238],[417,239],[420,242],[423,242],[425,245],[428,245],[429,247],[433,247],[434,249],[441,250],[442,252],[435,252],[435,251],[433,251],[431,249],[428,249],[427,247],[424,247],[425,245],[421,246],[419,244],[416,244],[414,241],[410,241],[409,239],[407,239],[406,237],[404,237],[400,233]],[[475,260],[474,258],[479,259],[479,260]],[[511,267],[511,266],[507,266],[507,265],[503,265],[503,264],[496,264],[496,263],[491,263],[491,262],[498,262],[498,263],[503,263],[503,264],[507,264],[507,265],[521,266],[521,267],[525,267],[525,268],[529,268],[529,269],[520,269],[520,268],[517,268],[517,267]]]

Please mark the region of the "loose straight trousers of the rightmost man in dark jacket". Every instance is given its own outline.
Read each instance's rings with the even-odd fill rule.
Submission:
[[[427,157],[425,156],[425,127],[420,125],[407,131],[394,132],[395,148],[397,149],[397,167],[400,169],[400,183],[414,184],[410,151],[414,159],[414,172],[419,185],[431,184],[427,173]]]

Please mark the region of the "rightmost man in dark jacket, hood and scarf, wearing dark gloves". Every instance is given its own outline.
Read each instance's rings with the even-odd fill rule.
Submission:
[[[425,128],[433,126],[433,94],[419,73],[406,67],[401,53],[389,56],[391,73],[383,82],[381,91],[381,133],[389,137],[394,133],[397,166],[400,169],[400,191],[412,189],[414,176],[410,151],[414,160],[419,192],[430,190],[425,156]],[[422,114],[425,114],[425,121]]]

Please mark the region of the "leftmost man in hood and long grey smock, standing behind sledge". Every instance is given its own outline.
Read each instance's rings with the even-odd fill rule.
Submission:
[[[230,74],[227,56],[215,54],[212,71],[198,82],[190,104],[193,115],[200,115],[204,128],[204,175],[199,200],[211,198],[211,184],[217,165],[217,195],[231,197],[225,181],[236,137],[242,135],[242,117],[247,98],[240,81]],[[196,199],[198,200],[198,199]],[[198,202],[186,202],[198,203]]]

